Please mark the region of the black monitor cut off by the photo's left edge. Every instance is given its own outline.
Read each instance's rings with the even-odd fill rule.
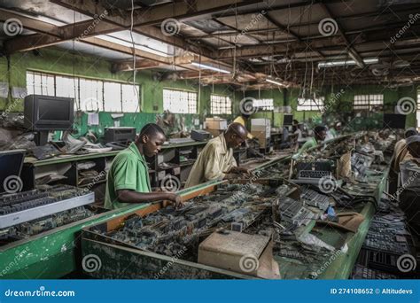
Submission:
[[[25,159],[25,150],[0,151],[0,193],[22,190],[20,172]]]

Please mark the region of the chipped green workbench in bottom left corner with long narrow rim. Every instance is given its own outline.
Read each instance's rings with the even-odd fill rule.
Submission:
[[[201,184],[181,190],[188,197],[192,190],[218,182]],[[156,204],[154,204],[156,205]],[[106,211],[93,217],[51,229],[41,234],[0,247],[1,279],[56,279],[81,268],[80,237],[84,227],[108,221],[116,216],[141,211],[152,204],[129,206],[123,209]]]

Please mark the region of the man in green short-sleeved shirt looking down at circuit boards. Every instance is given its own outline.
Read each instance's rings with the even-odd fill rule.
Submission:
[[[165,140],[162,128],[149,123],[142,128],[135,143],[115,156],[106,182],[105,208],[116,209],[158,200],[171,201],[176,207],[181,205],[180,196],[173,192],[151,191],[144,155],[157,155]]]

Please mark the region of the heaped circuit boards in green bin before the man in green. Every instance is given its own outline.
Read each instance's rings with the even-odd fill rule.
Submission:
[[[276,188],[256,183],[221,185],[180,209],[168,206],[145,217],[134,214],[120,229],[102,234],[145,251],[175,255],[181,247],[192,245],[215,228],[234,224],[245,229],[271,209],[273,195],[276,197]]]

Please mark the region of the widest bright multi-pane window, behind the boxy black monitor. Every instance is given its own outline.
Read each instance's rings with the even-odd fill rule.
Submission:
[[[74,97],[82,111],[136,113],[140,86],[39,72],[27,72],[27,93]]]

